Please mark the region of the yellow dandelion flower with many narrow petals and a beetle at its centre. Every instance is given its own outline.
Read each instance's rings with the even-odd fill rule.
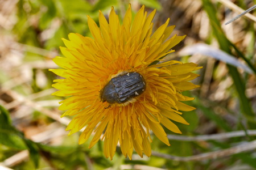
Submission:
[[[91,148],[101,138],[106,158],[113,159],[118,143],[129,159],[134,149],[150,156],[151,130],[169,146],[161,124],[181,134],[173,121],[188,125],[180,111],[195,109],[181,102],[193,100],[181,92],[199,87],[188,81],[199,76],[191,71],[201,67],[179,61],[152,64],[174,52],[170,49],[185,37],[168,39],[175,27],[168,26],[169,19],[153,33],[155,12],[147,15],[142,6],[132,22],[129,6],[120,24],[114,8],[109,22],[100,11],[100,27],[88,16],[93,39],[70,33],[69,41],[63,40],[67,48],[60,48],[65,57],[53,59],[63,69],[50,71],[65,78],[54,81],[60,91],[53,95],[69,96],[59,109],[66,111],[63,116],[75,116],[69,135],[86,127],[79,143],[93,134]]]

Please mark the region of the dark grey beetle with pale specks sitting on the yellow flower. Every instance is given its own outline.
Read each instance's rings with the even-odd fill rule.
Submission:
[[[146,90],[146,82],[138,72],[128,72],[112,78],[100,91],[102,102],[122,104],[141,95]]]

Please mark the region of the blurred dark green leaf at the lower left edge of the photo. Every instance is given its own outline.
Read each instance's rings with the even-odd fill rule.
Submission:
[[[26,149],[23,134],[11,125],[9,112],[0,105],[0,143],[18,150]]]

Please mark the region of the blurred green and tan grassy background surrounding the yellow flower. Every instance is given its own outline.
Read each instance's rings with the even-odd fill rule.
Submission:
[[[0,169],[256,169],[255,11],[225,25],[255,2],[0,0]],[[79,133],[67,136],[48,69],[57,68],[61,38],[91,36],[86,15],[98,23],[98,10],[108,17],[114,6],[122,19],[129,3],[133,15],[156,8],[154,28],[171,18],[172,35],[187,35],[166,60],[204,67],[201,87],[186,92],[197,109],[183,113],[190,125],[177,123],[183,134],[166,130],[170,147],[153,136],[150,158],[125,159],[117,148],[110,161],[102,142],[89,150]]]

